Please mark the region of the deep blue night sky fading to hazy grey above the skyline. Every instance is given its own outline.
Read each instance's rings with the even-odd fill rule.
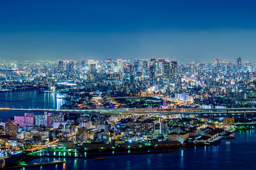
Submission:
[[[0,0],[0,58],[255,60],[254,1]]]

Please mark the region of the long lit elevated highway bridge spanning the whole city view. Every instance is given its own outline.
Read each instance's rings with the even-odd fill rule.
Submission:
[[[95,110],[56,110],[56,109],[33,109],[33,108],[0,108],[0,111],[28,111],[28,112],[50,112],[50,113],[71,113],[88,115],[253,115],[256,108],[221,108],[221,109],[203,109],[203,108],[167,108],[167,109],[148,109],[148,108],[115,108],[115,109],[95,109]]]

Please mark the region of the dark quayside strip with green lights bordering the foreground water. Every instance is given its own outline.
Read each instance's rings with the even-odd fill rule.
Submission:
[[[225,133],[223,133],[221,136],[218,136],[217,138],[212,139],[211,141],[208,141],[207,143],[186,143],[186,144],[173,144],[170,143],[162,143],[162,145],[154,145],[154,146],[147,146],[147,147],[141,147],[141,148],[102,148],[102,150],[98,150],[95,152],[95,150],[72,150],[71,152],[68,152],[68,149],[66,149],[67,153],[62,150],[58,149],[42,149],[38,150],[36,152],[29,152],[29,153],[23,153],[22,157],[19,158],[19,161],[15,162],[13,164],[6,164],[5,169],[17,169],[21,167],[30,167],[30,166],[47,166],[52,164],[63,164],[65,162],[47,162],[42,164],[29,164],[31,160],[38,159],[40,157],[56,157],[56,158],[80,158],[80,159],[93,159],[93,160],[104,160],[108,159],[109,156],[117,156],[117,155],[137,155],[137,154],[154,154],[154,153],[170,153],[172,152],[172,149],[175,148],[186,148],[186,147],[194,147],[194,146],[210,146],[210,145],[218,145],[221,143],[221,139],[232,139],[230,138],[230,134],[233,134],[235,131],[239,131],[242,129],[248,129],[247,126],[244,126],[243,128],[239,127],[230,127],[230,129],[225,129]],[[56,152],[59,152],[59,154],[55,154],[54,150]],[[68,154],[71,153],[71,154]],[[8,159],[6,159],[8,160]],[[6,161],[7,162],[7,161]],[[10,161],[9,161],[10,162]],[[20,162],[23,162],[23,165],[20,165]]]

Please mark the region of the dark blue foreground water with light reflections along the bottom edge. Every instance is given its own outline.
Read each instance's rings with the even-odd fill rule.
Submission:
[[[235,132],[233,140],[223,139],[220,145],[173,149],[171,153],[111,156],[106,160],[66,160],[65,169],[255,169],[256,132]],[[29,164],[51,162],[54,158],[35,159]],[[63,166],[29,167],[26,169],[63,169]]]

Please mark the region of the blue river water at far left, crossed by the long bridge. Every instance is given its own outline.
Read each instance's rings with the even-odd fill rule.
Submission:
[[[62,104],[70,104],[65,99],[58,99],[56,93],[40,93],[25,90],[0,93],[1,108],[50,108],[60,109]],[[0,118],[24,115],[22,111],[1,111]]]

